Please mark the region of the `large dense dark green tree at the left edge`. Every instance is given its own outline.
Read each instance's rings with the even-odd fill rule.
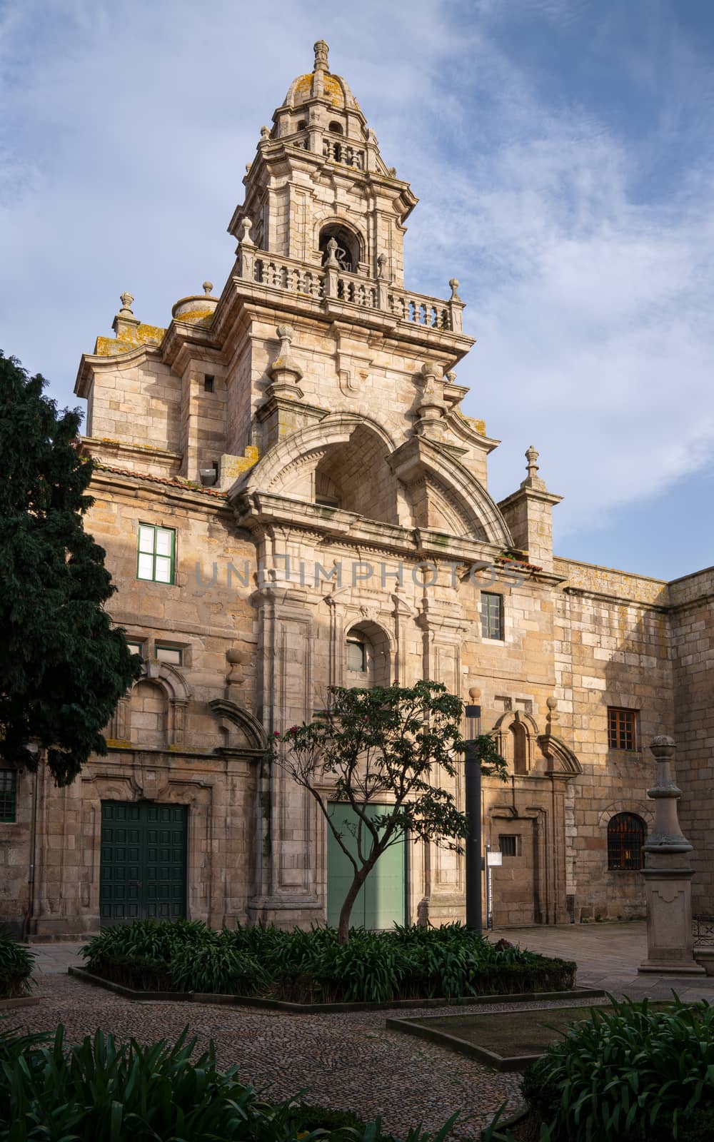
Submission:
[[[39,746],[69,785],[106,753],[101,730],[141,661],[104,610],[117,588],[82,524],[80,413],[58,412],[46,384],[0,352],[0,758],[35,770]]]

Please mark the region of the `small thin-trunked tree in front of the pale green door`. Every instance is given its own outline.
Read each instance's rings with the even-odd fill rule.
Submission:
[[[391,845],[408,835],[462,851],[466,814],[433,779],[454,777],[460,764],[464,706],[440,682],[370,690],[330,686],[329,692],[323,717],[275,735],[273,758],[314,797],[352,864],[338,925],[339,942],[346,943],[358,893]],[[506,763],[494,738],[481,734],[476,741],[482,772],[505,778]],[[340,830],[343,822],[330,814],[330,802],[354,811],[356,823],[345,822],[353,845]],[[370,813],[370,805],[385,802],[384,812]]]

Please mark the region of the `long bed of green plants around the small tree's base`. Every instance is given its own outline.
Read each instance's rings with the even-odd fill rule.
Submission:
[[[575,964],[508,946],[462,924],[393,932],[273,925],[220,932],[142,920],[107,928],[82,949],[90,971],[139,990],[262,995],[296,1003],[391,1003],[494,992],[557,991]],[[133,982],[134,981],[134,982]]]

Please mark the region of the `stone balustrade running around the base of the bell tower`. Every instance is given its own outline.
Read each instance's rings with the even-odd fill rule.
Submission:
[[[456,280],[450,282],[451,298],[444,301],[398,289],[383,278],[346,273],[334,266],[315,268],[294,258],[276,257],[244,239],[238,248],[238,273],[244,281],[315,301],[332,298],[340,304],[382,311],[425,329],[462,332],[464,303],[456,292]]]

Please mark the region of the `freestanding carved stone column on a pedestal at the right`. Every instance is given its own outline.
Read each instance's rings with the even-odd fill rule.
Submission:
[[[675,745],[672,738],[653,738],[650,749],[657,762],[656,783],[648,789],[655,801],[655,828],[644,845],[642,869],[647,896],[647,959],[640,972],[704,975],[693,957],[691,932],[691,878],[689,862],[692,846],[682,835],[677,801],[682,796],[674,783],[671,765]]]

